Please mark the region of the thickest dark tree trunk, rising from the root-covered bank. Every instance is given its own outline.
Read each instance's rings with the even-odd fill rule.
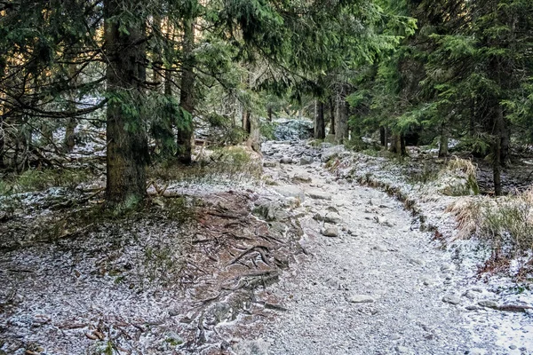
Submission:
[[[146,197],[149,161],[143,120],[146,82],[145,19],[123,21],[125,10],[140,16],[141,0],[104,0],[107,59],[107,204],[123,206]],[[113,20],[112,20],[113,19]]]

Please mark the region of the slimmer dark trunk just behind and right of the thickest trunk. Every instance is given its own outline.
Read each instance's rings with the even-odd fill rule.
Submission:
[[[195,22],[192,19],[185,20],[183,32],[183,67],[181,75],[181,88],[179,93],[179,106],[186,110],[190,115],[190,120],[186,120],[179,125],[178,129],[178,160],[184,164],[192,162],[193,151],[193,118],[195,111],[194,86],[194,54],[193,47],[195,44]]]

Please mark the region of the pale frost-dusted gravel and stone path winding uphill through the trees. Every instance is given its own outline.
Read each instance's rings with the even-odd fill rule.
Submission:
[[[301,244],[310,255],[270,289],[288,311],[261,335],[268,353],[531,351],[512,339],[498,342],[495,329],[505,314],[479,305],[495,295],[469,280],[429,233],[419,232],[401,203],[337,180],[316,162],[319,155],[301,165],[301,156],[306,163],[306,154],[313,154],[308,147],[269,142],[264,154],[274,190],[305,194]],[[300,164],[277,163],[290,159]]]

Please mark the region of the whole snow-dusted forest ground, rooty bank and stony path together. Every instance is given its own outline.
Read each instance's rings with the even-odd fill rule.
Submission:
[[[0,215],[0,354],[533,353],[531,292],[481,278],[475,241],[420,232],[401,187],[355,183],[398,183],[381,158],[263,154],[259,180],[156,180],[142,212],[101,214],[101,182],[19,196]],[[453,233],[452,199],[419,201],[425,224]]]

